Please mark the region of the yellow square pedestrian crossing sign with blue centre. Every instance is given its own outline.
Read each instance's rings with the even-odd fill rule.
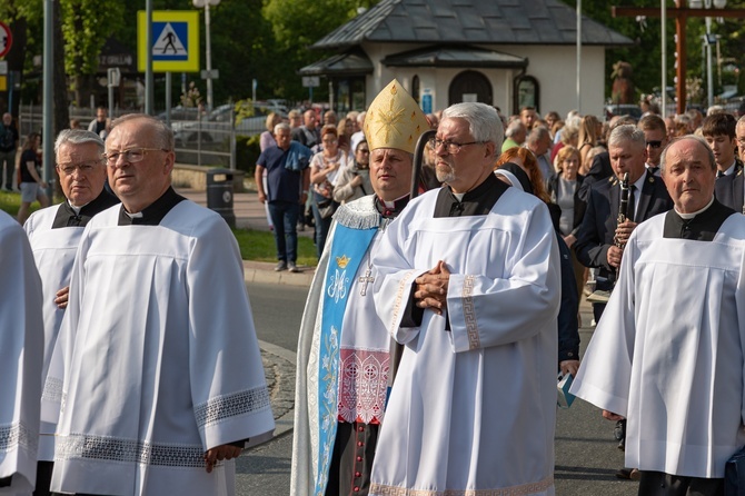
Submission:
[[[147,47],[147,13],[137,16],[138,69],[146,70],[148,50],[153,72],[199,71],[199,11],[156,10],[150,24],[150,47]]]

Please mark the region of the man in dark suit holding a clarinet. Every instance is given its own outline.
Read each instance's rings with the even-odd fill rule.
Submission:
[[[632,125],[617,126],[608,138],[608,151],[614,176],[596,182],[589,190],[575,244],[577,259],[586,267],[599,269],[596,288],[604,291],[613,289],[623,246],[636,225],[673,208],[663,181],[645,168],[644,131]],[[626,172],[629,176],[627,220],[618,225],[620,179]],[[604,308],[603,302],[593,305],[595,321],[600,319]]]

